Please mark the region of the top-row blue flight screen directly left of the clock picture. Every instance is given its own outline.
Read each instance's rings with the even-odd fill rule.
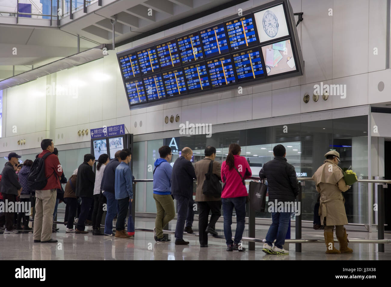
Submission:
[[[240,50],[258,42],[254,20],[251,15],[226,22],[231,50]]]

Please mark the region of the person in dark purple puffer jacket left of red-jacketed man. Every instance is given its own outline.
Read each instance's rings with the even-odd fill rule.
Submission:
[[[32,190],[31,190],[30,186],[27,184],[27,176],[30,173],[31,166],[32,166],[32,160],[26,159],[23,162],[22,168],[18,172],[19,182],[20,182],[20,185],[22,185],[22,192],[20,193],[20,201],[23,202],[24,205],[25,204],[28,205],[29,202],[31,202]],[[30,207],[31,207],[31,205],[30,205]],[[30,214],[26,215],[25,212],[18,213],[18,221],[17,221],[18,227],[17,227],[17,229],[22,229],[22,226],[21,226],[22,219],[23,219],[23,230],[32,230],[32,228],[29,227]]]

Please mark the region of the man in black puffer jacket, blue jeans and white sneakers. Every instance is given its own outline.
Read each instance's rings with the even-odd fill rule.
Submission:
[[[273,148],[274,159],[266,162],[259,172],[261,179],[267,179],[269,187],[269,209],[273,223],[266,235],[264,251],[267,254],[288,254],[283,249],[287,235],[291,212],[294,211],[294,201],[299,193],[299,182],[294,166],[287,162],[286,151],[282,144]],[[273,241],[276,243],[273,247]]]

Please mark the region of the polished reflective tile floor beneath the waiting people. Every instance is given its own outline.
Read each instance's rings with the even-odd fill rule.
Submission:
[[[59,218],[61,220],[61,217]],[[170,223],[170,230],[175,229],[175,220]],[[194,221],[197,229],[197,221]],[[65,226],[58,225],[59,232],[53,234],[56,244],[33,243],[32,233],[0,234],[0,260],[391,260],[391,244],[385,244],[384,253],[377,252],[377,244],[349,244],[352,254],[326,255],[324,243],[302,244],[302,252],[295,252],[295,244],[290,244],[289,255],[267,255],[262,252],[262,245],[256,244],[255,251],[227,252],[224,239],[210,237],[209,247],[200,248],[198,237],[187,236],[187,246],[176,246],[174,235],[170,234],[169,244],[157,244],[152,232],[136,231],[134,239],[106,239],[90,234],[66,234]],[[136,218],[136,227],[153,228],[154,219]],[[233,230],[235,224],[232,225]],[[246,225],[246,228],[248,226]],[[256,226],[256,238],[265,238],[269,226]],[[87,230],[91,230],[88,227]],[[220,235],[222,223],[217,223]],[[197,232],[197,231],[196,231]],[[248,232],[245,230],[244,236]],[[350,239],[376,239],[377,233],[349,231]],[[294,230],[292,230],[292,237]],[[303,228],[302,237],[323,239],[323,232]],[[391,239],[391,234],[385,235]],[[244,243],[248,248],[248,243]],[[336,244],[339,248],[339,244]]]

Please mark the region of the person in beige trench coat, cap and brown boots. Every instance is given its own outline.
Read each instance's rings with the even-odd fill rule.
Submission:
[[[325,226],[325,242],[327,254],[352,253],[348,248],[348,235],[345,224],[348,218],[345,212],[345,199],[342,192],[350,189],[343,179],[343,171],[338,167],[339,153],[335,150],[325,154],[326,160],[312,176],[316,191],[320,193],[319,215],[321,224]],[[339,242],[339,250],[334,248],[335,235]]]

